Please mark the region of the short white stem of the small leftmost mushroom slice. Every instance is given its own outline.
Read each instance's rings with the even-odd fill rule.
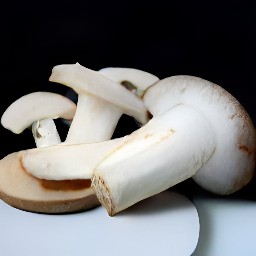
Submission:
[[[32,124],[32,134],[37,147],[48,147],[61,143],[54,120],[42,119]]]

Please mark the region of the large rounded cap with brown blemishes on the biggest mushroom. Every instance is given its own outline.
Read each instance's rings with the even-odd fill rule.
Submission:
[[[227,195],[252,179],[255,128],[240,102],[224,88],[198,77],[173,76],[150,87],[144,102],[153,116],[182,103],[193,106],[209,120],[215,131],[216,149],[193,176],[200,186]]]

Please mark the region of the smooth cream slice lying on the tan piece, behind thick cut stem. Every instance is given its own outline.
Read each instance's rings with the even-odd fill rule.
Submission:
[[[95,166],[118,150],[127,138],[73,145],[61,143],[47,148],[30,149],[23,151],[21,161],[24,169],[37,178],[91,179]]]

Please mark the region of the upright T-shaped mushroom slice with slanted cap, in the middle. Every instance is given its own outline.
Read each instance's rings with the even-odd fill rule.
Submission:
[[[66,85],[78,94],[77,110],[66,144],[110,139],[123,113],[142,124],[148,121],[147,109],[139,97],[78,63],[55,66],[49,80]]]

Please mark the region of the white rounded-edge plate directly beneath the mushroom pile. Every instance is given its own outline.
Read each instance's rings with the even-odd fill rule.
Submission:
[[[199,237],[194,204],[162,192],[109,217],[103,207],[45,215],[0,200],[1,256],[147,255],[188,256]]]

